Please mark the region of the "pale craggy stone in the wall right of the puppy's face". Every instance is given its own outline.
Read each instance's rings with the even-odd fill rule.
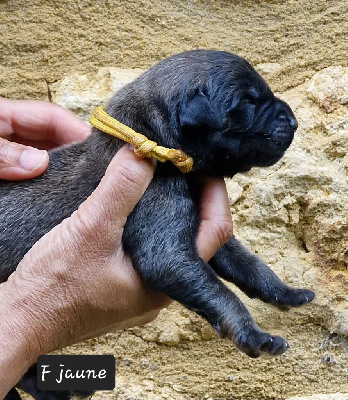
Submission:
[[[227,183],[236,234],[289,283],[315,288],[325,327],[342,335],[348,335],[347,74],[330,67],[281,95],[299,122],[291,148],[276,166]]]

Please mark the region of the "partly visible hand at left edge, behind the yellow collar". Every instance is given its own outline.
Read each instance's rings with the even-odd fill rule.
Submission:
[[[40,175],[48,165],[45,149],[83,140],[89,133],[88,125],[56,104],[0,97],[0,179]]]

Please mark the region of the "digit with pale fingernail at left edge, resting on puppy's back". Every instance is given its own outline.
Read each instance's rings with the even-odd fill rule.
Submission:
[[[47,167],[48,153],[0,138],[0,179],[30,179]]]

